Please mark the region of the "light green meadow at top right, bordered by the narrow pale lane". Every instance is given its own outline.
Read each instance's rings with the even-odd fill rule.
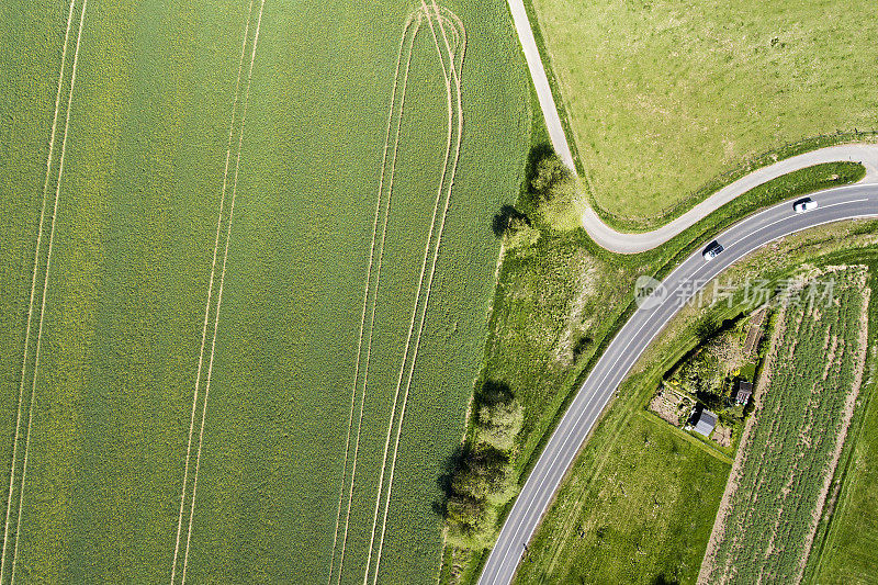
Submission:
[[[627,227],[755,155],[875,127],[866,0],[529,3],[594,201]]]

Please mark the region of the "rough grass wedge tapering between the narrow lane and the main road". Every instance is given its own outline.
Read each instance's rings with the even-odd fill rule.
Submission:
[[[551,406],[547,410],[547,405],[540,405],[540,414],[545,417],[547,413],[551,413],[552,418],[545,420],[542,428],[542,434],[539,436],[537,445],[529,445],[531,438],[525,441],[522,452],[526,453],[522,471],[527,472],[530,469],[531,461],[529,461],[531,453],[540,452],[544,442],[549,439],[550,432],[560,417],[566,409],[566,404],[573,398],[573,391],[575,391],[582,381],[587,375],[590,367],[603,353],[606,346],[612,339],[612,335],[624,324],[631,313],[635,310],[633,304],[632,286],[633,282],[640,274],[650,274],[656,279],[664,278],[673,268],[679,263],[684,258],[703,245],[708,237],[711,237],[717,232],[724,229],[732,225],[734,222],[742,217],[756,212],[764,205],[770,205],[783,201],[785,199],[796,198],[804,193],[809,193],[819,189],[828,187],[836,187],[848,182],[855,182],[863,177],[865,169],[859,164],[851,162],[829,162],[825,165],[817,165],[807,169],[778,177],[777,179],[754,188],[753,190],[744,193],[735,201],[723,205],[716,212],[711,213],[697,225],[686,229],[682,234],[675,236],[671,241],[654,248],[652,250],[630,256],[620,256],[608,252],[600,248],[587,236],[582,233],[569,235],[555,235],[551,239],[551,244],[544,238],[541,240],[542,248],[539,248],[538,254],[525,259],[524,261],[516,262],[515,257],[507,258],[509,262],[509,270],[513,271],[510,280],[516,282],[516,285],[521,285],[521,282],[527,282],[524,274],[528,270],[534,271],[539,274],[540,270],[549,270],[554,274],[559,274],[559,280],[563,283],[558,285],[558,300],[548,300],[550,306],[539,306],[529,316],[509,316],[507,324],[504,326],[515,328],[518,323],[536,322],[540,319],[553,319],[559,322],[563,320],[563,311],[572,311],[576,307],[571,304],[576,300],[576,291],[572,283],[576,279],[583,279],[587,274],[588,280],[594,285],[593,291],[599,291],[597,295],[582,295],[579,302],[593,302],[594,305],[583,305],[579,310],[581,313],[592,311],[595,306],[600,307],[603,312],[601,318],[593,317],[590,320],[586,319],[582,323],[569,323],[569,336],[577,337],[579,344],[578,360],[572,369],[564,371],[565,375],[555,376],[554,379],[543,380],[543,375],[551,370],[547,369],[532,369],[525,370],[530,380],[522,382],[530,387],[540,387],[539,384],[552,384],[550,387],[556,389],[550,394],[554,394],[555,401],[550,403]],[[833,179],[837,176],[837,179]],[[583,252],[585,250],[585,252]],[[578,256],[577,256],[578,255]],[[581,259],[588,259],[590,269],[586,270],[584,260],[579,265],[571,263],[563,268],[564,257],[577,256]],[[527,260],[530,260],[528,262]],[[552,266],[550,262],[558,261],[559,266]],[[504,265],[504,269],[506,266]],[[567,273],[561,273],[563,270],[569,270]],[[526,293],[518,293],[518,296],[526,296]],[[498,285],[498,293],[495,297],[495,311],[499,307],[505,307],[506,301],[503,299],[502,291]],[[566,303],[566,305],[564,304]],[[587,313],[586,313],[587,314]],[[575,313],[574,313],[575,315]],[[518,317],[521,320],[518,320]],[[493,337],[509,335],[504,334],[500,324],[491,323]],[[587,341],[587,342],[586,342]],[[529,355],[534,350],[545,352],[552,351],[556,344],[545,344],[542,347],[533,345],[524,345],[518,348],[519,355]],[[497,362],[503,363],[504,359],[515,363],[513,356],[516,353],[509,350],[505,358],[498,358]],[[534,361],[538,358],[534,356]],[[488,361],[488,364],[492,363]],[[520,371],[516,369],[516,371]],[[544,395],[544,392],[541,393]],[[526,426],[526,429],[528,427]],[[534,460],[536,461],[536,460]]]

